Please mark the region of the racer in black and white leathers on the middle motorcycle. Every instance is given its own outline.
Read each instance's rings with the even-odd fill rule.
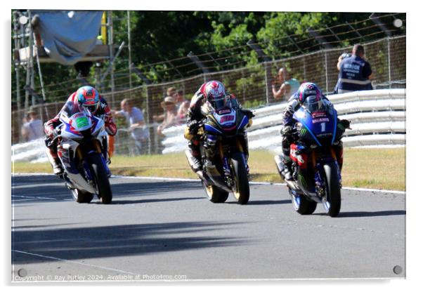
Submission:
[[[202,105],[204,105],[204,103],[207,103],[216,111],[241,108],[235,95],[228,93],[225,86],[220,81],[209,81],[202,84],[193,95],[190,107],[188,108],[187,126],[184,137],[189,141],[188,150],[190,152],[190,158],[188,160],[195,173],[202,170],[200,135],[197,134],[197,131],[200,127],[200,121],[206,117],[206,114],[202,112]],[[242,110],[242,112],[247,115],[251,126],[254,114],[249,110]],[[244,140],[244,145],[242,145],[242,147],[245,152],[245,157],[248,159],[248,140],[246,136]],[[204,145],[207,164],[211,164],[211,156],[214,154],[215,142],[216,140],[207,139]]]

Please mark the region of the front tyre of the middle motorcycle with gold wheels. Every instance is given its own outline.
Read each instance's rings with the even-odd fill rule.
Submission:
[[[245,205],[249,200],[249,181],[244,155],[241,152],[233,153],[230,158],[230,163],[232,164],[235,176],[233,194],[235,195],[235,199],[237,199],[238,204]]]

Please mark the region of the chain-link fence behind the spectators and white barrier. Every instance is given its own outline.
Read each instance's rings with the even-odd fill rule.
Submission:
[[[388,37],[363,44],[367,60],[372,66],[375,79],[372,81],[375,89],[381,88],[405,88],[405,36]],[[190,100],[204,81],[221,80],[228,91],[239,98],[243,107],[255,108],[266,106],[277,101],[273,98],[271,85],[276,81],[278,69],[287,67],[291,77],[300,83],[312,81],[318,84],[326,93],[332,93],[338,79],[337,61],[339,55],[351,52],[351,47],[333,48],[298,55],[291,58],[283,58],[271,62],[261,62],[251,67],[242,67],[221,72],[199,74],[195,77],[180,79],[161,84],[144,84],[130,90],[103,93],[112,110],[120,109],[120,102],[124,98],[130,99],[135,107],[140,108],[145,117],[145,122],[150,135],[145,142],[143,153],[160,153],[160,141],[162,135],[157,134],[157,126],[160,119],[157,116],[164,114],[162,101],[167,96],[170,87],[183,91],[185,98]],[[277,82],[276,82],[277,84]],[[64,100],[63,100],[64,102]],[[53,117],[61,105],[53,104],[37,105],[40,117],[43,121]],[[19,131],[22,126],[23,112],[12,112],[12,143],[19,142]],[[134,140],[132,140],[129,125],[124,119],[116,118],[119,128],[115,138],[115,152],[117,154],[133,154]],[[178,124],[184,120],[179,119]]]

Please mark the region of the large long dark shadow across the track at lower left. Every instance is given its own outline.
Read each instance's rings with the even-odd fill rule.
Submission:
[[[234,225],[238,224],[242,223],[204,221],[15,230],[12,249],[76,260],[240,246],[252,240],[207,235],[207,232],[235,228]],[[51,260],[20,253],[12,254],[14,264]]]

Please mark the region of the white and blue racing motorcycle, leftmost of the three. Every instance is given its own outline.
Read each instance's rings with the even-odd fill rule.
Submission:
[[[112,201],[110,170],[107,159],[107,133],[103,119],[89,110],[82,110],[71,117],[60,114],[56,127],[58,156],[64,167],[63,178],[72,197],[78,203],[89,203],[94,194],[103,204]]]

